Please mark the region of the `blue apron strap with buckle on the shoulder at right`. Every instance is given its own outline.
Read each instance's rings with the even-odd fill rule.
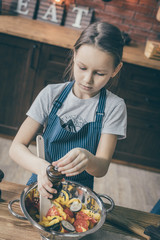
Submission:
[[[96,122],[101,124],[104,116],[104,109],[106,104],[106,89],[102,88],[100,91],[99,103],[96,112]]]

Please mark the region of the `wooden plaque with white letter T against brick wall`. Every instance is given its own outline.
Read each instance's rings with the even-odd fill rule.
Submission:
[[[93,9],[71,4],[65,19],[65,26],[84,29],[92,20]]]

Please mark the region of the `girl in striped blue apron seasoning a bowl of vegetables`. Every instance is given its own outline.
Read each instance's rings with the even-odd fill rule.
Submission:
[[[91,24],[74,46],[69,64],[72,81],[45,87],[27,112],[10,156],[34,173],[28,184],[38,181],[46,198],[56,191],[46,175],[50,163],[66,179],[93,189],[93,178],[108,171],[117,139],[125,138],[125,103],[105,88],[122,67],[123,45],[117,27]],[[41,125],[45,160],[28,150]]]

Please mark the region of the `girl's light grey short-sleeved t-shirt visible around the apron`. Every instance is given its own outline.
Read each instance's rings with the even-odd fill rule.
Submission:
[[[48,116],[52,110],[54,101],[59,97],[68,82],[49,84],[34,100],[27,116],[46,126]],[[107,100],[105,114],[102,122],[101,133],[109,133],[118,136],[118,139],[126,137],[127,112],[124,100],[106,90]],[[89,99],[80,99],[69,92],[57,115],[62,127],[68,131],[77,132],[88,122],[94,122],[98,107],[100,93]]]

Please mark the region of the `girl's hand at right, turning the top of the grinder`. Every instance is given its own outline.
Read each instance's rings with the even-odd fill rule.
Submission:
[[[67,177],[75,176],[87,168],[90,157],[91,153],[86,149],[74,148],[52,165],[57,166],[58,171]]]

